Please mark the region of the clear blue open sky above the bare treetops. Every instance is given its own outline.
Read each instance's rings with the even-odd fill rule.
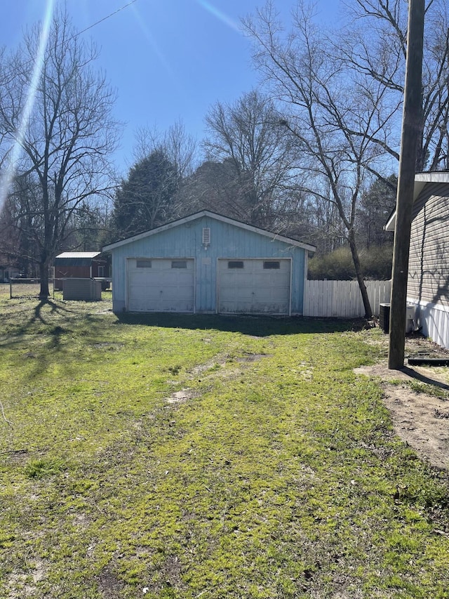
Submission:
[[[51,0],[4,0],[0,40],[14,48],[27,25],[41,20]],[[114,13],[129,0],[67,0],[79,31]],[[288,18],[294,0],[278,0]],[[165,131],[175,121],[204,136],[204,117],[217,100],[233,103],[257,85],[250,42],[241,18],[264,0],[135,0],[83,33],[100,48],[98,67],[118,93],[116,117],[126,123],[116,162],[124,174],[133,162],[139,126]],[[317,0],[323,20],[337,0]]]

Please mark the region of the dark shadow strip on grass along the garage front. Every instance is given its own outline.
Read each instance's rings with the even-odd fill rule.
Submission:
[[[363,318],[342,320],[333,318],[309,317],[269,317],[247,315],[182,315],[165,312],[153,314],[136,314],[124,312],[116,315],[115,324],[130,324],[146,327],[163,327],[171,329],[194,329],[227,331],[256,337],[271,335],[295,335],[314,333],[340,333],[344,331],[361,331],[366,328]]]

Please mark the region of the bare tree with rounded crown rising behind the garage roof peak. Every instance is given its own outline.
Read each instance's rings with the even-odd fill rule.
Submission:
[[[233,105],[217,102],[206,124],[206,157],[225,165],[228,173],[230,193],[223,207],[248,223],[273,227],[294,170],[290,136],[274,103],[251,91]]]

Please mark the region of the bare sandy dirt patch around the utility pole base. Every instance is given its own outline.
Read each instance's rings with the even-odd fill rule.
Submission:
[[[387,348],[387,335],[384,342]],[[406,340],[406,364],[409,356],[449,357],[449,353],[418,337]],[[449,368],[406,365],[402,370],[389,370],[385,360],[374,366],[356,368],[355,372],[382,382],[384,404],[389,409],[396,434],[432,466],[448,469]],[[415,390],[412,383],[418,383],[415,388],[419,386],[420,390]],[[442,397],[432,393],[435,388],[442,390]]]

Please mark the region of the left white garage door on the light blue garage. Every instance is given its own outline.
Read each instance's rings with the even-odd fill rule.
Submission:
[[[194,260],[128,260],[130,312],[193,312]]]

